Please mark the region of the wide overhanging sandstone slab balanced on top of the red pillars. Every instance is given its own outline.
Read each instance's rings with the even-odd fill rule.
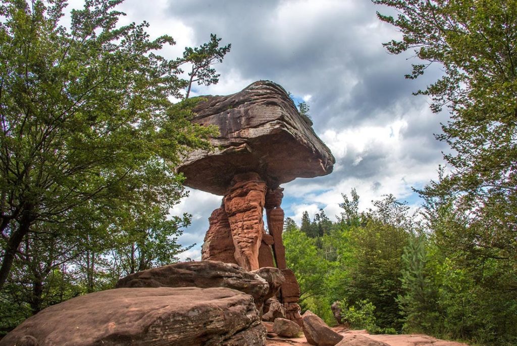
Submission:
[[[256,172],[276,188],[332,172],[332,153],[278,84],[261,80],[232,95],[202,97],[193,122],[215,125],[220,135],[210,140],[215,151],[194,151],[180,164],[185,185],[223,195],[239,173]]]

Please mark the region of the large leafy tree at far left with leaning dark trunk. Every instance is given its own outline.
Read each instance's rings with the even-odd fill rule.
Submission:
[[[64,0],[3,0],[0,15],[0,288],[37,223],[69,225],[78,208],[171,204],[179,154],[208,147],[187,81],[155,52],[147,23],[117,26],[123,0],[87,0],[59,26]]]

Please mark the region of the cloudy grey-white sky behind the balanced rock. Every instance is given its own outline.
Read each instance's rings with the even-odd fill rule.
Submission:
[[[80,0],[70,1],[77,7]],[[231,94],[255,80],[268,79],[307,101],[316,134],[336,157],[332,174],[283,185],[287,217],[299,222],[307,210],[340,213],[341,193],[356,188],[360,208],[384,194],[418,205],[412,187],[436,178],[447,146],[434,139],[447,114],[432,114],[429,100],[412,92],[439,76],[436,67],[408,80],[411,54],[389,55],[382,43],[400,34],[381,23],[368,0],[126,0],[124,22],[150,23],[151,37],[171,35],[177,42],[162,54],[180,56],[185,46],[207,42],[210,33],[232,44],[219,84],[196,87],[193,95]],[[183,258],[200,257],[207,218],[221,197],[191,191],[173,211],[193,215],[180,238],[196,243]]]

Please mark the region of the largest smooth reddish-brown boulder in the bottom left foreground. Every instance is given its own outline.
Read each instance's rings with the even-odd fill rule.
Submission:
[[[43,309],[0,346],[169,346],[266,344],[250,295],[227,288],[119,288]]]

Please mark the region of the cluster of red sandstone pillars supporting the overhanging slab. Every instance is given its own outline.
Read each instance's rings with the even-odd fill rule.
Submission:
[[[285,308],[286,318],[301,326],[300,288],[294,273],[287,269],[282,242],[284,211],[283,189],[268,188],[254,172],[237,174],[223,197],[220,208],[210,216],[209,229],[202,249],[203,260],[237,263],[252,271],[277,267],[285,276],[278,300]],[[269,234],[264,229],[263,211]]]

